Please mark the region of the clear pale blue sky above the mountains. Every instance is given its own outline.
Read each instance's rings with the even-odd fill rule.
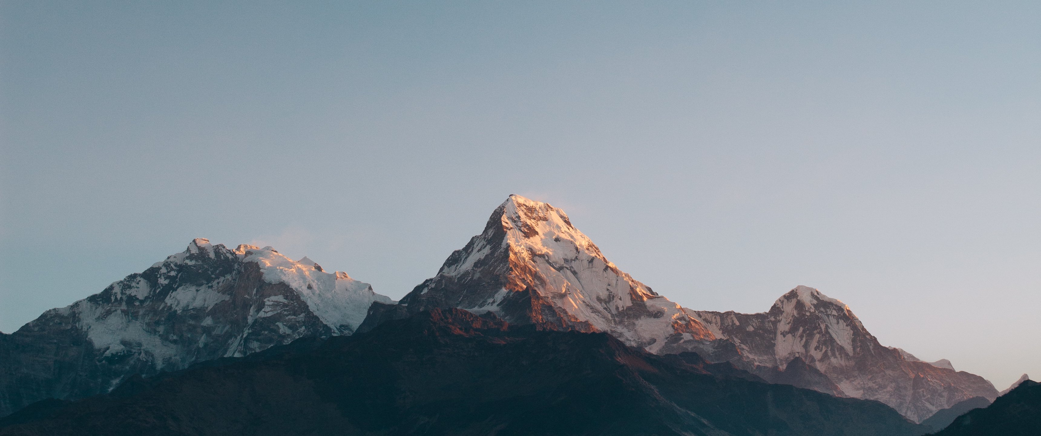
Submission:
[[[841,4],[837,4],[841,3]],[[400,298],[509,194],[694,309],[1041,377],[1041,2],[0,2],[0,330],[184,250]]]

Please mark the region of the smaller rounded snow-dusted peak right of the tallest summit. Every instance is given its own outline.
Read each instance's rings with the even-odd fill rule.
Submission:
[[[973,396],[997,396],[979,376],[883,347],[845,304],[806,286],[785,293],[764,313],[688,313],[734,342],[754,365],[785,369],[798,359],[828,376],[835,393],[880,401],[916,422]]]

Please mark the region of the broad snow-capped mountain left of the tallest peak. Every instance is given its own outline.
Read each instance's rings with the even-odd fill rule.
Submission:
[[[303,336],[351,334],[373,302],[347,273],[271,247],[187,250],[0,334],[0,416],[48,399],[107,392],[134,374],[245,356]]]

